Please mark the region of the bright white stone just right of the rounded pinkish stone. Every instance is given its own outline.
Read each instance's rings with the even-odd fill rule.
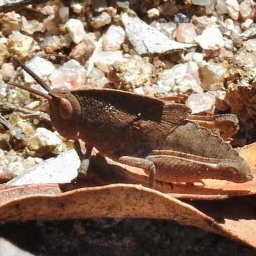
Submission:
[[[205,50],[217,50],[224,47],[225,44],[220,29],[216,27],[206,28],[202,35],[197,36],[195,40]]]

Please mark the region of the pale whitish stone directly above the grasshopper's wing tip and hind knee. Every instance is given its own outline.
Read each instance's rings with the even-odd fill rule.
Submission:
[[[186,106],[192,110],[192,114],[207,112],[214,113],[215,96],[212,93],[196,93],[189,95]]]

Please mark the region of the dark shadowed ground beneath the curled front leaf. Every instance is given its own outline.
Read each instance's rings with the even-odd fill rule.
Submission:
[[[256,250],[244,244],[167,220],[6,223],[0,226],[0,236],[44,256],[256,255]]]

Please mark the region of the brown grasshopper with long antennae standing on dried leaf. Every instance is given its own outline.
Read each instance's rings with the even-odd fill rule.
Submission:
[[[174,148],[177,141],[172,137],[172,132],[180,128],[178,125],[190,113],[183,104],[171,104],[135,93],[110,89],[51,90],[21,61],[12,58],[47,90],[48,94],[20,84],[9,84],[48,100],[52,125],[61,136],[75,141],[74,146],[81,159],[78,177],[86,175],[92,148],[96,147],[103,156],[143,168],[150,177],[151,188],[155,175],[156,179],[172,182],[195,182],[204,178],[227,179],[234,182],[252,179],[248,165],[234,154],[229,145],[228,153],[224,156],[222,153],[211,155],[196,150],[194,152],[193,148],[190,152],[182,151],[186,148],[186,143],[189,145],[189,140],[202,143],[199,138],[200,132],[196,138],[185,136],[188,129],[189,132],[193,132],[195,128],[203,131],[193,123],[188,123],[194,125],[189,128],[182,125],[184,138],[180,138],[182,143],[179,141],[178,144],[182,147],[176,145],[178,148]],[[221,144],[221,138],[214,136],[209,130],[204,131],[209,132],[214,150],[219,151],[221,147],[221,150],[225,151],[227,146]],[[78,139],[86,143],[84,155]],[[180,172],[180,168],[184,171]]]

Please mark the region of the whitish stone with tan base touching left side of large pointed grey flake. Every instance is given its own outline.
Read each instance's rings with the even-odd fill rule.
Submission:
[[[125,31],[120,26],[109,26],[106,34],[103,36],[103,51],[117,51],[124,43]]]

